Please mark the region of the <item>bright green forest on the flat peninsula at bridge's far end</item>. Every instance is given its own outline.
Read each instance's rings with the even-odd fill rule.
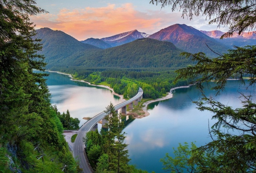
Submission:
[[[156,99],[163,97],[175,86],[189,84],[189,80],[178,80],[174,84],[176,73],[173,70],[166,69],[164,71],[159,68],[152,68],[150,71],[131,69],[88,71],[87,74],[76,71],[72,76],[74,79],[85,80],[95,85],[106,82],[114,89],[114,92],[123,95],[124,98],[131,98],[136,95],[138,87],[142,88],[144,98]]]

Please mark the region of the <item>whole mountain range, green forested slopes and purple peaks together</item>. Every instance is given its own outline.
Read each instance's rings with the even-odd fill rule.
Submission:
[[[203,32],[185,24],[175,24],[148,35],[133,30],[102,39],[78,41],[62,31],[36,30],[42,39],[47,69],[63,68],[178,68],[191,64],[180,56],[183,51],[204,52],[209,57],[232,49]],[[214,32],[208,32],[210,36]],[[221,32],[218,33],[219,35]],[[217,36],[215,34],[214,36]],[[256,39],[252,40],[255,44]],[[117,46],[119,45],[119,46]],[[211,49],[209,49],[209,47]],[[213,51],[211,51],[213,50]]]

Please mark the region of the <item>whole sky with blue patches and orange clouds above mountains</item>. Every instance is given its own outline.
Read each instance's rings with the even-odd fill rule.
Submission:
[[[209,25],[205,16],[184,19],[170,6],[149,3],[150,0],[36,0],[48,13],[31,16],[35,29],[48,27],[63,31],[79,41],[104,38],[137,29],[154,34],[174,24],[186,24],[198,30],[228,31],[228,27]]]

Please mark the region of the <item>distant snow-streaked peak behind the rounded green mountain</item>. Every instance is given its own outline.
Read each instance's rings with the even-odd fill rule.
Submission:
[[[102,38],[100,40],[106,42],[107,44],[110,44],[112,47],[114,46],[120,46],[122,44],[132,42],[136,39],[142,39],[149,37],[148,34],[145,32],[138,32],[136,29],[129,32],[123,32],[121,34],[117,34],[111,37]]]

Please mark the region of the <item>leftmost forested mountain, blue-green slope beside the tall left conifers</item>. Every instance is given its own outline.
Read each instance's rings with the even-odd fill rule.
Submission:
[[[82,43],[74,37],[62,31],[53,31],[49,28],[41,28],[36,30],[37,34],[33,39],[41,39],[43,49],[40,54],[45,55],[46,68],[51,68],[52,65],[60,65],[63,59],[77,54],[97,51],[100,48],[90,44]]]

